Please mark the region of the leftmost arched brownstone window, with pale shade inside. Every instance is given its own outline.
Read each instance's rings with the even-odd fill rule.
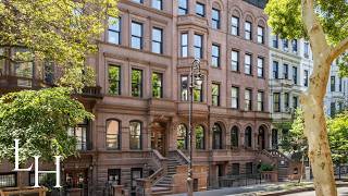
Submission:
[[[121,123],[117,120],[107,120],[107,148],[120,149]]]

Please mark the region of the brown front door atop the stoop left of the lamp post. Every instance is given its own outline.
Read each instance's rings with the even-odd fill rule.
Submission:
[[[157,149],[162,156],[165,156],[165,128],[162,125],[152,126],[151,148]]]

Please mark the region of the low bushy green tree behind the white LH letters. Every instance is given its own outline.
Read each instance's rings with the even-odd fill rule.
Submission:
[[[14,161],[14,139],[20,139],[20,161],[33,156],[76,155],[76,138],[69,127],[91,119],[67,88],[10,93],[0,97],[0,160]]]

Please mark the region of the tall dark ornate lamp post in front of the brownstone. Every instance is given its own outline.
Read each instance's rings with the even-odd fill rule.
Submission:
[[[189,152],[189,167],[187,177],[187,195],[194,195],[194,179],[192,179],[192,105],[194,105],[194,88],[201,88],[203,83],[203,75],[200,71],[200,61],[195,59],[189,72],[189,107],[188,107],[188,152]]]

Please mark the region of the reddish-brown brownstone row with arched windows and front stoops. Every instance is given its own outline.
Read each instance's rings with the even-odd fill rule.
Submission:
[[[177,168],[189,157],[187,85],[195,58],[204,75],[194,93],[198,188],[219,186],[219,176],[252,173],[259,160],[269,160],[269,28],[260,2],[121,0],[119,23],[89,59],[99,87],[87,88],[82,100],[96,120],[72,132],[82,152],[64,162],[65,184],[107,195],[116,182],[135,194],[136,179],[145,179],[153,192],[179,192]],[[16,74],[10,70],[3,66]],[[24,84],[0,78],[2,89]]]

